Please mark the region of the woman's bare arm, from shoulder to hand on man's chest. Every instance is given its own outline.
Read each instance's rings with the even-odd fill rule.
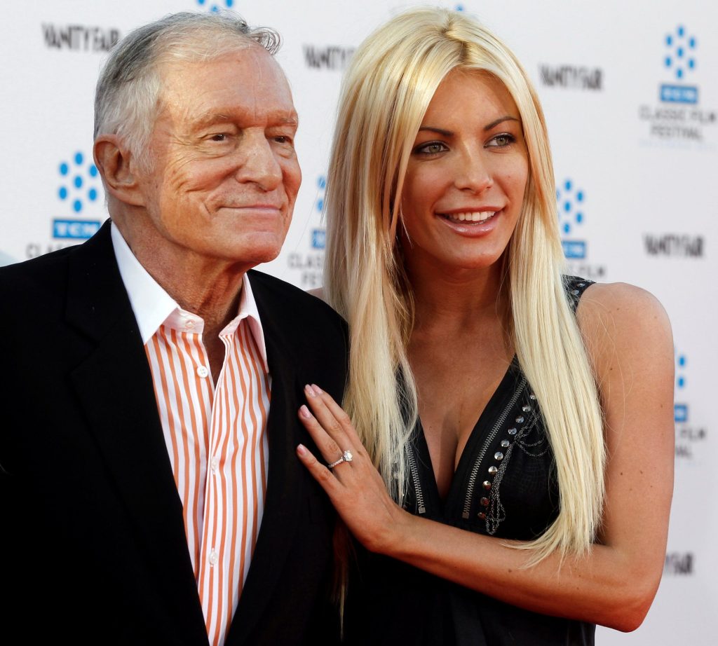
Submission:
[[[666,313],[638,288],[594,285],[577,312],[605,413],[606,499],[600,544],[582,558],[556,553],[525,567],[526,551],[401,510],[383,486],[348,417],[328,395],[307,389],[299,416],[322,456],[350,464],[331,471],[300,446],[356,538],[370,551],[510,604],[633,630],[661,579],[673,491],[673,342]],[[314,387],[316,388],[316,387]],[[560,567],[559,567],[560,566]]]

